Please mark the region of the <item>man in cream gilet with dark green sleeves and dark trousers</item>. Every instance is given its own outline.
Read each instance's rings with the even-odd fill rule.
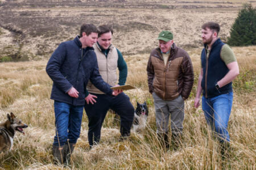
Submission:
[[[127,78],[127,65],[121,52],[112,45],[113,29],[109,25],[100,25],[98,29],[98,41],[93,48],[97,56],[100,75],[110,86],[122,86]],[[116,84],[117,68],[119,70],[118,84]],[[88,141],[90,147],[100,142],[101,127],[109,109],[112,109],[121,118],[121,138],[128,137],[134,117],[134,108],[129,97],[123,92],[116,97],[106,95],[91,82],[88,83],[86,89],[89,92],[85,97],[85,112],[89,120]]]

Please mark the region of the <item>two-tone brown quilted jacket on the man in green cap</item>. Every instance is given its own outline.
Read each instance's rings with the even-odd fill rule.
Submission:
[[[187,99],[193,86],[194,73],[191,58],[185,50],[172,44],[170,56],[164,66],[159,48],[152,50],[147,64],[148,88],[163,100],[179,95]]]

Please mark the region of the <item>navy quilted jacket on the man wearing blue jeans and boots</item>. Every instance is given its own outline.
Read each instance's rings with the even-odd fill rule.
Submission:
[[[53,81],[51,99],[56,101],[75,106],[84,105],[85,88],[89,79],[105,94],[112,95],[113,92],[98,72],[94,49],[82,49],[79,36],[58,46],[47,63],[46,72]],[[79,91],[78,98],[67,94],[72,86]]]

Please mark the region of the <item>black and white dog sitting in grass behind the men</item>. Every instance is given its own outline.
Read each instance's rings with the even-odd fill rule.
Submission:
[[[148,117],[148,110],[146,101],[143,104],[139,104],[137,101],[137,108],[134,112],[134,119],[133,119],[133,130],[134,131],[141,131],[146,127]]]

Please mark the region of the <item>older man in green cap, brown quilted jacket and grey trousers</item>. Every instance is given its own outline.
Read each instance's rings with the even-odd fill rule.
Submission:
[[[156,133],[168,149],[168,123],[171,116],[172,148],[177,149],[184,120],[184,100],[192,90],[194,73],[191,58],[177,47],[170,31],[159,33],[159,47],[152,50],[147,64],[148,88],[154,98]]]

